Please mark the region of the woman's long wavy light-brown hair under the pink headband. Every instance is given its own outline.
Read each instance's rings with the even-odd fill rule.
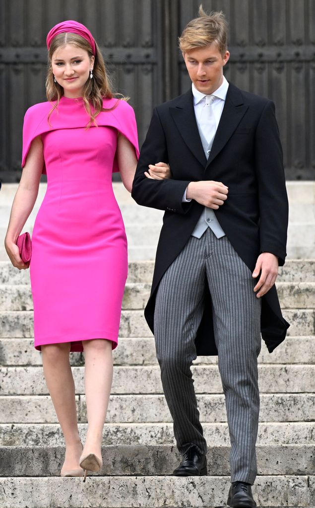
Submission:
[[[59,101],[63,96],[63,87],[58,83],[54,82],[54,75],[52,72],[52,56],[54,52],[66,44],[73,44],[78,48],[84,49],[87,51],[89,57],[93,56],[92,48],[88,41],[81,37],[78,34],[72,34],[70,32],[64,32],[62,34],[56,35],[52,40],[51,46],[48,51],[48,70],[47,70],[47,78],[46,78],[46,97],[49,102],[56,101],[53,105],[51,111],[48,115],[48,121],[50,115],[58,107]],[[117,104],[115,104],[112,108],[104,109],[103,108],[103,99],[112,99],[114,97],[114,93],[112,91],[111,80],[106,72],[105,63],[103,56],[100,52],[99,47],[95,42],[96,52],[95,52],[95,60],[93,65],[93,78],[87,79],[84,89],[83,89],[83,103],[87,114],[90,117],[90,121],[87,124],[87,128],[91,126],[92,123],[96,125],[95,118],[100,113],[100,111],[111,111],[114,109]],[[92,111],[92,108],[93,111]]]

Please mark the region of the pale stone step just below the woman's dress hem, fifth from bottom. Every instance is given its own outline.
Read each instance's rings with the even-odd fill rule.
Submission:
[[[259,365],[261,393],[310,393],[314,365]],[[192,367],[196,393],[222,393],[217,365]],[[76,393],[84,393],[84,367],[73,367]],[[1,395],[46,395],[41,367],[1,367]],[[114,367],[112,394],[162,394],[160,368],[154,366]]]

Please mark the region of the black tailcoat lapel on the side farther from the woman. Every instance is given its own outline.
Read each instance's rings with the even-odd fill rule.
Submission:
[[[244,104],[240,90],[236,88],[236,86],[229,84],[222,115],[206,163],[206,168],[226,145],[247,109],[248,106]]]

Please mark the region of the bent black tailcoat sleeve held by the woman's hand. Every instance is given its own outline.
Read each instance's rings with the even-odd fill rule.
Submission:
[[[131,196],[138,205],[174,213],[186,213],[191,203],[183,203],[182,199],[189,181],[174,180],[173,178],[164,180],[147,178],[145,171],[148,171],[149,164],[158,162],[168,163],[168,152],[163,126],[157,109],[155,109],[140,152]]]

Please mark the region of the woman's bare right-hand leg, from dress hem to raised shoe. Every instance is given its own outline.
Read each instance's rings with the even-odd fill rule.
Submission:
[[[104,339],[82,341],[85,356],[85,394],[88,431],[83,455],[100,457],[103,426],[113,379],[112,342]]]

